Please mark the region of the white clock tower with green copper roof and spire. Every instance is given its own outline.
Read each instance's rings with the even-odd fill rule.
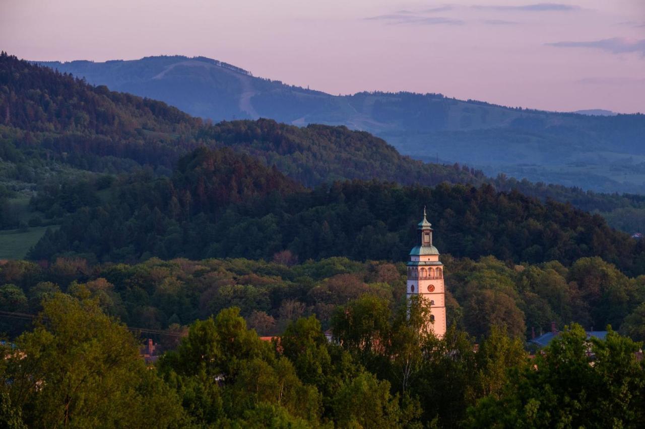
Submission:
[[[426,219],[425,207],[417,231],[417,245],[410,252],[408,262],[408,300],[419,296],[424,305],[430,306],[432,332],[442,338],[446,334],[443,264],[437,247],[432,245],[432,225]]]

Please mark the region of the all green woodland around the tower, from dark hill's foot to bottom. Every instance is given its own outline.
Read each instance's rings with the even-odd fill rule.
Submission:
[[[426,307],[404,304],[404,263],[6,262],[1,309],[41,316],[33,328],[0,319],[17,335],[0,346],[0,421],[140,427],[154,412],[157,427],[638,426],[642,343],[613,331],[588,341],[571,321],[642,341],[645,276],[600,258],[443,260],[442,339]],[[524,340],[550,321],[570,329],[529,358]],[[121,323],[161,330],[157,365],[146,369]]]

